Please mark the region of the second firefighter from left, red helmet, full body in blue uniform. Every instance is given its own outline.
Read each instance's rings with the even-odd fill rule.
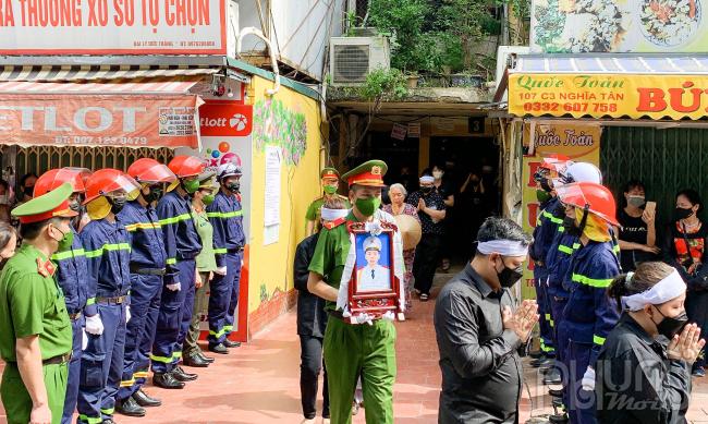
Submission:
[[[89,296],[103,330],[89,332],[82,356],[78,389],[78,421],[112,424],[115,396],[123,375],[125,323],[130,316],[130,235],[118,218],[129,193],[138,189],[131,177],[117,169],[101,169],[86,180],[86,208],[91,221],[81,233],[88,272]],[[93,293],[91,293],[93,292]]]

